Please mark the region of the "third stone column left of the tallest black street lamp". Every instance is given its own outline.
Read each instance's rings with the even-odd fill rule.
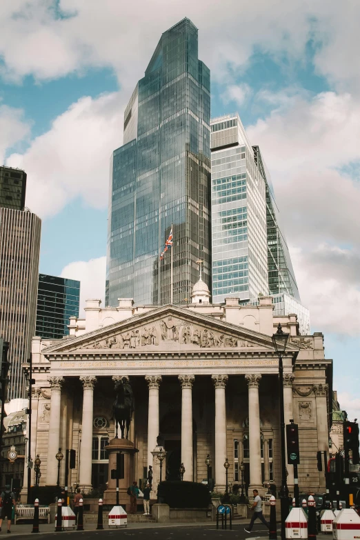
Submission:
[[[181,462],[185,467],[184,480],[190,482],[194,478],[192,465],[192,384],[194,375],[179,375],[181,388]]]

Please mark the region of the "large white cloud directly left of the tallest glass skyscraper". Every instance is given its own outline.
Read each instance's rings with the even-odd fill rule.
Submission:
[[[80,196],[95,208],[105,208],[110,156],[122,143],[122,111],[117,92],[83,97],[24,154],[10,155],[7,164],[28,173],[26,206],[49,217]]]

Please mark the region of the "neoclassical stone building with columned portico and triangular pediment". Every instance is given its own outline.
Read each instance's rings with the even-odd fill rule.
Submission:
[[[247,486],[279,486],[279,360],[271,336],[281,323],[290,334],[282,383],[286,423],[299,424],[300,490],[323,490],[317,450],[328,450],[332,405],[332,361],[324,356],[323,334],[299,335],[296,315],[274,317],[271,297],[244,307],[239,299],[212,304],[209,297],[200,279],[183,306],[119,299],[117,308],[101,308],[99,300],[88,300],[86,318],[70,319],[70,336],[34,337],[31,454],[41,459],[41,485],[57,483],[59,448],[77,452],[69,486],[88,490],[106,483],[114,382],[126,377],[134,393],[130,440],[139,450],[134,479],[146,477],[161,433],[170,479],[179,477],[183,463],[184,480],[203,481],[210,454],[220,490],[226,458],[233,485],[241,483],[243,461]],[[62,485],[64,468],[65,459]],[[292,466],[288,484],[292,490]]]

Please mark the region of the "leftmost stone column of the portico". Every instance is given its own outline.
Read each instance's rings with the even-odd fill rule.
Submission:
[[[60,419],[61,419],[61,387],[63,377],[48,377],[51,387],[49,439],[48,439],[48,463],[46,473],[47,486],[55,486],[57,483],[57,459],[60,444]]]

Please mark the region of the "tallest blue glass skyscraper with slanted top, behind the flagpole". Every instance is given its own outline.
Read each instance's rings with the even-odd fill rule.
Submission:
[[[197,28],[164,32],[124,114],[123,146],[110,178],[106,306],[190,299],[203,261],[211,288],[210,71],[198,59]]]

